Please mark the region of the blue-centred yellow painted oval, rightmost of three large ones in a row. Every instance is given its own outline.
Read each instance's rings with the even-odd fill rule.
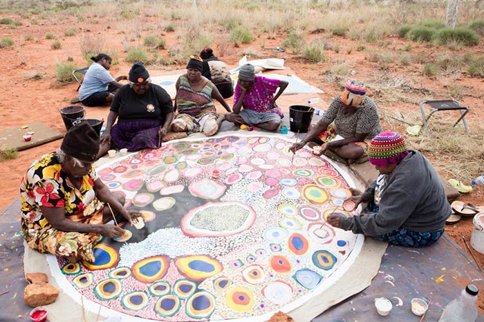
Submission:
[[[177,257],[175,265],[180,274],[192,281],[203,281],[223,270],[219,261],[207,255]]]

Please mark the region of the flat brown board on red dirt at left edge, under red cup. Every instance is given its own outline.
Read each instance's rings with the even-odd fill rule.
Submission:
[[[24,141],[24,135],[27,134],[32,137],[30,141]],[[62,137],[64,134],[61,132],[49,128],[44,123],[35,122],[0,131],[0,149],[27,150]]]

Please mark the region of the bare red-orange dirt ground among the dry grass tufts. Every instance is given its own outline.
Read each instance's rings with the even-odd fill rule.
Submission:
[[[8,36],[14,39],[16,45],[12,48],[0,49],[0,79],[2,85],[0,86],[0,115],[1,123],[0,130],[7,128],[18,127],[35,121],[40,121],[55,128],[60,132],[65,132],[62,118],[59,114],[59,108],[66,105],[71,105],[70,100],[77,96],[77,83],[70,83],[68,85],[59,85],[55,81],[55,63],[57,61],[67,61],[71,57],[74,63],[79,67],[86,65],[80,51],[80,38],[78,36],[65,37],[64,30],[68,28],[75,28],[78,34],[82,32],[90,32],[93,35],[104,36],[106,39],[106,47],[111,50],[116,50],[119,54],[119,64],[111,68],[111,74],[114,77],[120,74],[127,74],[131,63],[124,60],[126,52],[122,46],[123,32],[119,30],[110,19],[99,19],[95,24],[89,21],[82,23],[77,21],[75,17],[71,19],[64,19],[62,21],[42,20],[38,25],[32,25],[30,19],[22,19],[18,14],[2,14],[2,17],[10,17],[17,21],[22,21],[23,26],[15,29],[9,29],[6,25],[0,25],[0,37]],[[149,23],[150,19],[156,17],[143,17],[144,23]],[[88,31],[90,30],[90,31]],[[46,39],[45,34],[51,32],[56,35],[57,39],[62,41],[62,48],[59,50],[51,49],[52,39]],[[22,41],[25,34],[32,34],[31,41]],[[165,50],[159,50],[159,54],[167,55],[168,48],[175,44],[178,39],[176,32],[165,32],[163,37],[167,41]],[[282,46],[283,39],[286,37],[284,33],[261,34],[261,39],[256,39],[253,43],[243,45],[240,47],[231,46],[227,53],[220,57],[229,66],[235,67],[243,57],[243,52],[252,50],[254,48],[259,52],[261,58],[279,58],[285,60],[285,65],[290,68],[298,77],[304,81],[316,86],[324,91],[319,94],[322,99],[320,106],[322,110],[326,109],[326,105],[333,97],[342,91],[342,83],[344,78],[335,78],[330,70],[338,61],[346,61],[351,68],[351,76],[355,79],[366,81],[369,88],[369,95],[374,97],[378,103],[380,114],[391,114],[398,110],[402,114],[419,112],[418,103],[424,99],[442,99],[449,98],[449,79],[446,77],[425,77],[422,75],[422,64],[411,63],[409,66],[393,63],[379,63],[368,59],[369,52],[378,52],[384,50],[387,52],[398,53],[406,46],[411,46],[412,50],[409,52],[412,56],[418,54],[436,54],[435,48],[429,48],[427,44],[412,43],[398,37],[387,37],[384,41],[377,43],[366,43],[366,49],[362,51],[353,50],[325,50],[324,55],[326,61],[324,63],[308,63],[299,57],[299,53],[292,53],[289,50],[286,52],[275,52],[274,50],[266,50],[260,48],[257,43],[264,43],[266,48],[274,48]],[[333,44],[333,46],[340,46],[340,48],[357,48],[358,43],[348,37],[334,37],[324,33],[309,34],[310,39],[325,39]],[[202,48],[201,48],[202,49]],[[441,48],[442,50],[451,50]],[[215,54],[217,48],[214,47]],[[474,57],[483,56],[484,47],[474,46],[472,48],[463,48],[458,50],[458,54],[462,55],[470,53]],[[158,67],[156,70],[150,66],[147,68],[152,75],[168,74],[173,70],[184,68],[185,65],[180,63],[178,66]],[[405,75],[412,80],[414,84],[413,90],[407,92],[407,96],[411,99],[403,101],[385,101],[384,92],[381,89],[372,88],[371,79],[375,79],[382,72],[387,75],[399,74]],[[484,80],[480,78],[470,77],[468,74],[461,73],[454,75],[453,82],[460,88],[459,101],[466,106],[471,107],[467,122],[472,130],[472,125],[482,121],[484,117],[484,110],[482,108],[482,93],[484,92]],[[303,103],[303,102],[301,102]],[[108,108],[86,108],[87,117],[106,119]],[[396,124],[396,125],[395,125]],[[389,118],[382,117],[382,127],[384,130],[396,130],[404,133],[407,125],[395,122],[389,122]],[[458,125],[462,126],[462,125]],[[54,141],[40,145],[36,148],[24,150],[18,153],[17,159],[2,161],[2,179],[0,181],[0,209],[10,205],[12,201],[19,195],[19,183],[21,176],[24,174],[28,165],[40,157],[42,154],[52,152],[59,147],[59,141]],[[476,147],[477,148],[477,147]],[[482,149],[481,147],[478,147]],[[431,159],[431,158],[429,158]],[[432,159],[431,159],[432,161]],[[440,170],[440,169],[438,169]],[[484,172],[484,171],[483,171]],[[439,173],[445,178],[450,179],[447,172]],[[465,182],[465,184],[470,184]],[[484,205],[484,187],[480,186],[474,189],[470,194],[462,195],[460,201],[472,203],[474,205]],[[447,225],[447,233],[462,247],[466,252],[469,248],[466,247],[463,238],[469,244],[469,239],[472,232],[472,219],[464,218],[454,225]],[[472,251],[478,264],[482,267],[484,265],[484,255],[478,254],[475,250]],[[482,303],[481,303],[482,304]]]

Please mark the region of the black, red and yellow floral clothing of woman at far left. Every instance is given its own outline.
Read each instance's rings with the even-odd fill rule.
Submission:
[[[93,248],[100,241],[100,234],[56,230],[40,207],[63,208],[66,218],[72,221],[102,223],[104,204],[97,200],[94,191],[97,178],[92,168],[82,178],[81,188],[75,188],[55,153],[46,154],[30,165],[20,185],[21,227],[30,248],[91,263],[95,260]]]

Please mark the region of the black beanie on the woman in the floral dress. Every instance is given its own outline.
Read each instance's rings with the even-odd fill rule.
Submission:
[[[88,121],[82,121],[67,131],[61,150],[70,157],[93,162],[99,152],[99,135]]]

